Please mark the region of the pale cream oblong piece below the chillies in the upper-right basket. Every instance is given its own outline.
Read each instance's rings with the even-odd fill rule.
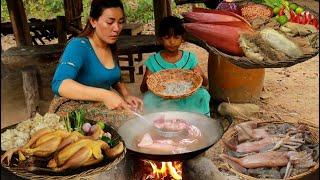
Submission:
[[[283,52],[289,57],[300,57],[303,55],[301,49],[294,42],[274,29],[265,28],[260,31],[260,35],[274,49]]]

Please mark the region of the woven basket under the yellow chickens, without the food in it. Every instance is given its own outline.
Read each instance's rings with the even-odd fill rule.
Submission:
[[[90,121],[90,120],[89,120]],[[92,122],[92,121],[90,121]],[[1,129],[1,133],[5,132],[7,129],[15,128],[17,124]],[[121,136],[117,133],[117,131],[111,126],[107,126],[108,132],[110,132],[113,138],[118,138],[120,141],[124,143]],[[124,148],[123,152],[112,160],[104,159],[102,162],[98,164],[94,164],[88,167],[80,167],[77,169],[69,169],[67,171],[54,173],[54,172],[29,172],[25,168],[18,167],[18,158],[17,156],[12,157],[12,162],[10,166],[5,164],[1,164],[1,168],[3,171],[9,171],[10,173],[19,176],[24,179],[37,179],[37,180],[51,180],[51,179],[89,179],[98,174],[104,173],[111,168],[115,167],[124,157],[127,150]],[[1,155],[4,151],[1,151]]]

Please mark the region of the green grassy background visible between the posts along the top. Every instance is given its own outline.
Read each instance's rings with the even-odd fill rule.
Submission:
[[[87,22],[91,0],[82,0],[82,23]],[[27,18],[52,19],[64,15],[63,0],[23,0]],[[152,0],[123,0],[127,22],[149,23],[154,20]],[[172,14],[180,16],[188,11],[189,5],[176,6],[172,1]],[[1,21],[10,21],[6,0],[1,0]]]

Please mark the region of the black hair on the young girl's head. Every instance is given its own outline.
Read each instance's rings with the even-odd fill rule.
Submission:
[[[183,27],[182,19],[175,16],[167,16],[161,20],[158,29],[159,37],[178,35],[183,36],[184,34],[185,29]]]

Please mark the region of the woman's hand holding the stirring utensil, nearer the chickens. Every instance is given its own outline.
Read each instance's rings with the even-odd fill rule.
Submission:
[[[128,109],[129,104],[123,100],[117,93],[110,91],[110,94],[103,97],[103,103],[108,109]]]

